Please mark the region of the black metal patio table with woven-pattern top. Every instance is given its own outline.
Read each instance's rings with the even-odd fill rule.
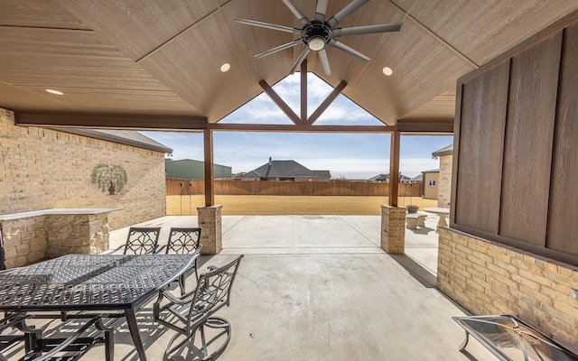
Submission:
[[[122,311],[138,357],[145,361],[135,311],[182,277],[197,257],[198,254],[64,255],[10,269],[0,272],[0,310]]]

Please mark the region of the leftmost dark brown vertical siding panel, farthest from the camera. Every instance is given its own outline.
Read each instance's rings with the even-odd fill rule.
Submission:
[[[508,100],[509,62],[463,84],[456,222],[498,233],[502,144]],[[491,105],[491,106],[485,106]],[[484,112],[479,109],[484,107]],[[481,171],[483,170],[483,171]],[[466,200],[467,199],[467,200]]]

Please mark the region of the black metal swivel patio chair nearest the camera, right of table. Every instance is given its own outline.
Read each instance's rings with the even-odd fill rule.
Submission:
[[[242,257],[239,255],[221,267],[210,266],[209,272],[200,274],[194,292],[181,297],[166,290],[159,293],[153,306],[154,320],[176,331],[163,360],[177,359],[182,353],[186,353],[186,359],[212,360],[223,353],[230,340],[231,327],[227,319],[215,316],[215,312],[229,305]],[[195,342],[197,334],[200,340]]]

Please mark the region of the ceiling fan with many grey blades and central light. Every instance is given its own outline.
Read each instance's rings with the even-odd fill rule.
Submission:
[[[350,16],[350,14],[355,13],[361,6],[366,5],[369,0],[353,0],[349,5],[346,5],[343,9],[341,9],[339,13],[333,15],[328,21],[325,21],[325,13],[327,11],[328,0],[317,0],[315,18],[313,20],[309,20],[301,12],[301,10],[299,10],[297,5],[295,5],[294,0],[282,1],[284,2],[284,5],[286,5],[289,10],[291,10],[295,17],[299,19],[299,22],[303,24],[303,28],[298,29],[291,26],[279,25],[276,23],[265,23],[257,20],[242,19],[238,17],[233,19],[238,23],[278,30],[281,32],[292,32],[294,34],[300,35],[300,38],[295,39],[293,42],[287,42],[283,45],[276,46],[273,49],[269,49],[268,51],[263,51],[255,55],[256,58],[263,58],[277,51],[283,51],[284,49],[292,48],[302,43],[305,44],[303,51],[301,51],[299,58],[297,58],[297,61],[295,61],[293,68],[289,72],[290,74],[294,74],[297,67],[299,67],[301,62],[307,57],[307,54],[309,54],[309,51],[317,51],[325,74],[330,76],[331,67],[329,65],[327,52],[325,51],[326,46],[337,49],[338,51],[342,51],[354,59],[367,63],[370,60],[367,56],[363,55],[359,51],[351,49],[349,46],[342,42],[338,42],[336,38],[346,35],[362,35],[378,32],[399,32],[401,29],[401,23],[353,26],[350,28],[336,27],[345,18]]]

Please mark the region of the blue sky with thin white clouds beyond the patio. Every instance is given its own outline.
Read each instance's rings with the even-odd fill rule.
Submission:
[[[331,93],[331,86],[312,73],[307,77],[308,114]],[[272,87],[300,114],[300,74]],[[223,118],[219,123],[293,124],[265,94]],[[383,125],[376,117],[340,95],[313,125]],[[202,133],[140,132],[172,148],[172,160],[204,160]],[[408,177],[439,168],[432,153],[450,145],[451,135],[402,135],[399,170]],[[214,132],[213,159],[232,167],[233,174],[253,171],[269,161],[294,160],[312,171],[330,171],[331,178],[364,180],[389,173],[390,134]]]

